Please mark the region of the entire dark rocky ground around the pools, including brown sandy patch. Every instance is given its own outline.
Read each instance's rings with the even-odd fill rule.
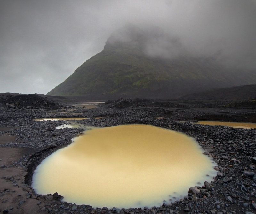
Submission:
[[[93,109],[55,104],[58,108],[54,110],[50,105],[44,108],[44,104],[27,108],[36,101],[10,108],[6,99],[0,100],[0,213],[256,213],[256,129],[179,122],[198,119],[255,122],[255,108],[136,99],[108,101]],[[57,193],[38,195],[30,186],[36,166],[83,132],[79,128],[55,129],[67,121],[34,120],[52,117],[85,117],[89,119],[79,123],[96,127],[151,124],[183,132],[196,138],[205,154],[218,164],[217,176],[210,184],[205,182],[191,188],[182,200],[152,208],[92,208],[63,202]]]

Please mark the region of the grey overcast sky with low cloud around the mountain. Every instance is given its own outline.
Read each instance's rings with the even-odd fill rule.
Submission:
[[[256,0],[0,3],[0,93],[46,94],[127,23],[157,32],[146,48],[150,55],[186,50],[256,71]]]

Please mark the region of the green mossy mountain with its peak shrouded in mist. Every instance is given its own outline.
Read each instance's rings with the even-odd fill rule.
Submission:
[[[145,34],[134,31],[127,34],[125,38],[112,35],[100,53],[47,95],[98,100],[173,99],[211,88],[256,83],[255,71],[227,68],[213,57],[149,55],[145,51],[149,41]]]

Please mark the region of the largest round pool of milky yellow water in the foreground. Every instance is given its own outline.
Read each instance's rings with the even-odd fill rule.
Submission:
[[[44,159],[32,186],[92,207],[161,206],[216,176],[202,152],[194,138],[151,125],[93,128]]]

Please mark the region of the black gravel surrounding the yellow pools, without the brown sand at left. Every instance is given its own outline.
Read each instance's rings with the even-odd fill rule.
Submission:
[[[28,175],[25,181],[30,185],[36,166],[52,152],[70,144],[73,137],[83,132],[83,129],[55,129],[70,121],[36,121],[34,119],[86,117],[90,119],[79,120],[79,123],[95,127],[151,124],[194,137],[205,149],[205,154],[211,156],[218,164],[215,181],[211,184],[202,184],[199,193],[189,193],[182,200],[171,204],[163,203],[161,207],[153,208],[92,208],[90,205],[62,202],[62,197],[57,194],[37,195],[34,193],[38,203],[47,200],[44,207],[45,213],[256,213],[256,129],[235,129],[227,126],[179,122],[198,118],[206,120],[222,118],[222,120],[245,122],[250,118],[255,118],[255,109],[195,108],[182,106],[182,104],[173,106],[170,103],[165,106],[158,103],[158,106],[155,106],[152,105],[152,101],[147,100],[143,100],[143,105],[135,105],[129,100],[126,101],[118,101],[119,103],[109,101],[96,109],[65,106],[57,110],[0,108],[0,126],[16,127],[5,133],[17,136],[14,142],[0,144],[0,147],[30,149],[31,153],[24,155],[14,163],[14,165],[19,164],[27,168]],[[127,105],[119,105],[125,103]],[[69,111],[72,115],[62,113]],[[93,117],[105,118],[94,119]],[[156,119],[156,117],[164,118]],[[1,132],[4,131],[0,131],[0,134]]]

